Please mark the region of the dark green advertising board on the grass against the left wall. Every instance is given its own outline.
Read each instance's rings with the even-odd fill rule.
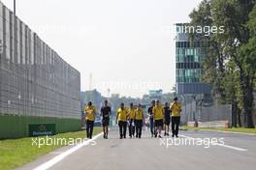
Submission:
[[[29,124],[28,135],[29,136],[42,136],[42,135],[54,135],[56,134],[55,124]]]

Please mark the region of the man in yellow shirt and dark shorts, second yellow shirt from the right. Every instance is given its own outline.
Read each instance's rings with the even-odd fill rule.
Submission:
[[[158,133],[158,137],[162,138],[161,131],[164,123],[164,111],[159,100],[156,100],[156,105],[153,107],[153,116],[155,124],[155,137],[157,137]]]

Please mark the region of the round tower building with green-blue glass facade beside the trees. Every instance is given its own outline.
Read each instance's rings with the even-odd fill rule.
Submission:
[[[208,43],[191,41],[184,25],[176,24],[176,93],[209,94],[210,87],[202,82],[202,62]]]

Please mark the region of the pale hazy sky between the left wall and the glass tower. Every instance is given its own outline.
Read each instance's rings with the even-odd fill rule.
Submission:
[[[2,2],[13,9],[13,0]],[[16,0],[16,15],[80,71],[81,91],[142,97],[148,90],[172,91],[174,24],[188,22],[200,2]]]

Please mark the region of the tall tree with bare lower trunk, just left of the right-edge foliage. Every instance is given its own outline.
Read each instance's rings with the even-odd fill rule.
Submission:
[[[247,117],[247,127],[254,128],[252,122],[253,80],[255,68],[248,62],[253,60],[244,51],[244,44],[250,39],[250,31],[246,26],[249,13],[255,5],[254,0],[213,0],[213,20],[217,25],[223,25],[226,31],[221,37],[225,44],[224,55],[228,61],[234,62],[239,71],[240,90],[242,92],[242,105]],[[252,76],[253,74],[253,76]]]

